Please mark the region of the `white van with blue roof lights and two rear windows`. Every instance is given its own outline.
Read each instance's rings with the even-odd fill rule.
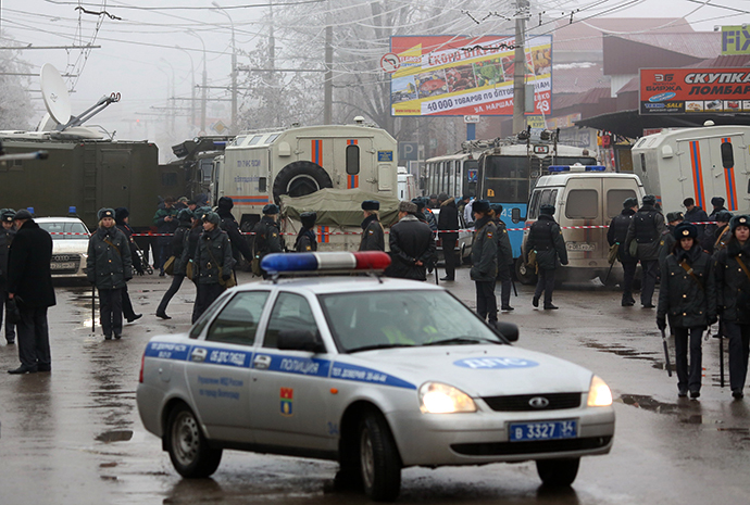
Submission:
[[[610,244],[607,231],[612,218],[623,211],[625,199],[643,199],[643,185],[637,175],[604,172],[603,166],[550,166],[551,175],[539,177],[528,202],[526,228],[539,216],[543,204],[554,205],[554,219],[563,228],[567,248],[567,266],[562,268],[559,279],[589,280],[608,275],[607,261]],[[572,229],[570,227],[591,227]],[[567,229],[566,229],[567,228]],[[528,229],[524,231],[524,250]],[[608,282],[622,278],[622,265],[615,263]],[[523,258],[516,261],[516,276],[524,283],[536,280]]]

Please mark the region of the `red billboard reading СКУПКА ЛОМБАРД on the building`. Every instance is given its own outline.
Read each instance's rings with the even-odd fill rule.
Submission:
[[[641,68],[641,114],[750,112],[750,68]]]

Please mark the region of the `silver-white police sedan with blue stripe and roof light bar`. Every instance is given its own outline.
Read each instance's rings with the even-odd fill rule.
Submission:
[[[385,253],[272,254],[266,270],[383,268]],[[517,329],[503,328],[511,339]],[[401,469],[534,459],[568,485],[612,447],[607,384],[515,348],[442,288],[308,277],[225,292],[143,354],[138,409],[184,477],[222,450],[340,463],[336,481],[395,500]]]

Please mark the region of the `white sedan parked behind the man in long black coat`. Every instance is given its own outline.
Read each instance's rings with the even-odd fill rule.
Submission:
[[[89,231],[77,217],[36,217],[52,236],[52,277],[86,277]]]

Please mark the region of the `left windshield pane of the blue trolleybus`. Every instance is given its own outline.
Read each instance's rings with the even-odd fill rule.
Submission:
[[[484,179],[484,197],[490,202],[526,203],[528,200],[526,156],[487,156]]]

